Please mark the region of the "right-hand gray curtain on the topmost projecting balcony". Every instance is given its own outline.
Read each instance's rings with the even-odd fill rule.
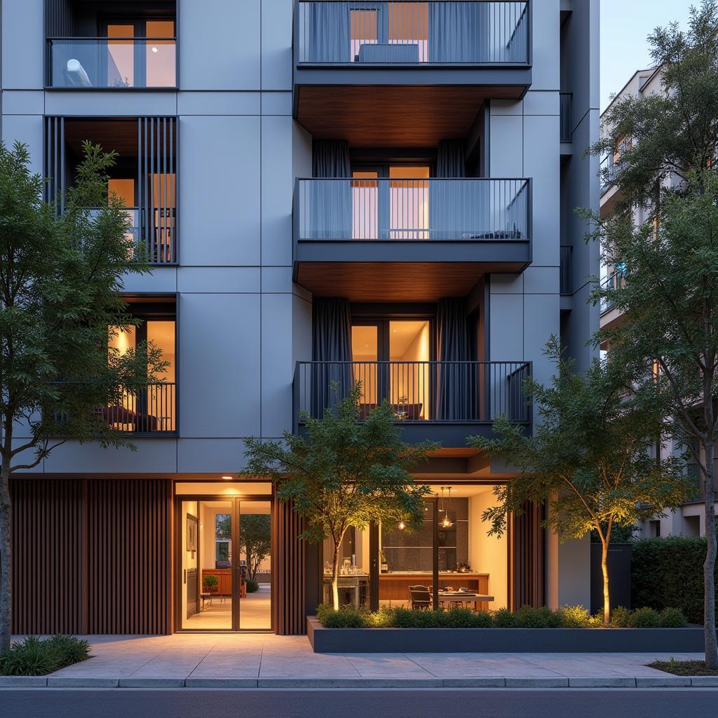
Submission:
[[[429,3],[429,62],[487,62],[485,2]]]

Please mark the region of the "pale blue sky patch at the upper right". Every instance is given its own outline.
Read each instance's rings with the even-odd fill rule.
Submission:
[[[647,37],[655,27],[679,22],[699,0],[601,0],[601,111],[636,70],[651,67]]]

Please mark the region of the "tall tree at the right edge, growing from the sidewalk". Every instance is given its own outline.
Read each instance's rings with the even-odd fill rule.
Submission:
[[[625,281],[602,288],[623,323],[597,340],[620,363],[645,372],[655,364],[671,393],[677,439],[700,467],[705,489],[706,663],[718,668],[715,628],[717,542],[714,454],[718,438],[718,6],[691,9],[688,32],[676,25],[649,38],[661,66],[662,92],[614,103],[595,154],[627,146],[612,183],[620,202],[607,218],[591,213],[604,261],[620,263]],[[625,141],[623,141],[625,139]],[[650,215],[641,224],[633,209]]]

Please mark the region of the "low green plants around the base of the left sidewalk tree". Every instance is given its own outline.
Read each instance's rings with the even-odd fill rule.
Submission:
[[[90,644],[69,635],[29,636],[0,653],[0,676],[46,676],[90,656]]]

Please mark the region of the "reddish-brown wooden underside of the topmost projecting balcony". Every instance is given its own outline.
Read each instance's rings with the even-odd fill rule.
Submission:
[[[350,146],[435,146],[464,137],[487,98],[520,98],[522,88],[471,85],[353,85],[299,88],[297,120],[317,139]]]

